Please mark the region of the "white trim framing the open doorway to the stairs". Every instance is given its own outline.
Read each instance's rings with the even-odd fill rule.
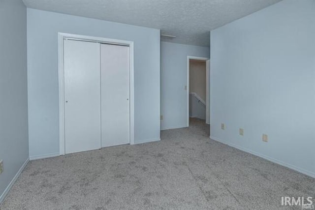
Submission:
[[[200,61],[207,61],[209,60],[209,58],[205,58],[205,57],[195,57],[195,56],[187,56],[187,97],[186,97],[186,101],[187,101],[187,127],[189,127],[189,60],[200,60]],[[207,64],[208,62],[206,62]],[[206,76],[209,75],[209,68],[207,68],[206,65]],[[208,81],[208,77],[206,78],[206,119],[208,117],[209,119],[209,100],[208,100],[208,94],[209,94],[209,81]],[[208,114],[207,114],[208,112]]]

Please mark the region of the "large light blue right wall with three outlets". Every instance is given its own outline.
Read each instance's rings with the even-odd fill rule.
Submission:
[[[212,138],[315,176],[315,1],[212,31],[210,70]]]

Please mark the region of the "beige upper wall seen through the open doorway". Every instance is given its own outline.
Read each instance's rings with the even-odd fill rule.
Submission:
[[[206,101],[206,62],[189,61],[189,92],[196,93]]]

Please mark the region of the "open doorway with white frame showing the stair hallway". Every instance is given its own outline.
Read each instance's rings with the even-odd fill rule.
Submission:
[[[209,116],[209,60],[187,57],[187,126],[189,121],[208,125]],[[207,126],[209,127],[209,126]],[[210,129],[206,129],[210,130]],[[207,132],[208,133],[208,132]]]

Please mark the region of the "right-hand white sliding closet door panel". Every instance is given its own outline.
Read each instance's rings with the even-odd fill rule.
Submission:
[[[129,140],[129,47],[101,44],[102,147]]]

